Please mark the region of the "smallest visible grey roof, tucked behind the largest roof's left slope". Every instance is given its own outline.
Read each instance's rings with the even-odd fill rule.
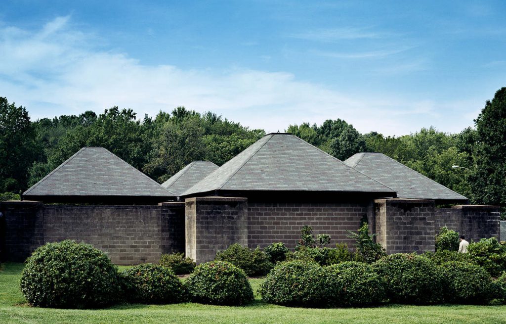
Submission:
[[[161,186],[179,196],[218,168],[210,161],[193,161]]]

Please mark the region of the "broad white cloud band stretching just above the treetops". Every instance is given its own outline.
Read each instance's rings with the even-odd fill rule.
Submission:
[[[470,124],[461,116],[456,129],[444,128],[448,123],[437,111],[439,102],[370,92],[352,96],[288,72],[143,65],[126,54],[95,49],[94,36],[73,30],[69,21],[59,17],[38,32],[0,29],[0,96],[26,106],[32,118],[102,112],[114,105],[133,108],[142,117],[184,105],[267,132],[329,118],[385,135],[431,125],[457,132]]]

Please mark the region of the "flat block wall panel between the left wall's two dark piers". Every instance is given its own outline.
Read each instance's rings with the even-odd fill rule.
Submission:
[[[158,206],[44,206],[44,240],[84,241],[116,264],[158,262],[162,253]]]

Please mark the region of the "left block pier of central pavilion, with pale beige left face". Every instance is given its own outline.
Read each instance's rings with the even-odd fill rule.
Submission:
[[[248,245],[247,198],[187,198],[186,256],[197,263],[214,260],[234,243]]]

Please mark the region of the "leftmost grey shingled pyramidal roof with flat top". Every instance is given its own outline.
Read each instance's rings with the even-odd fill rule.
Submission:
[[[83,147],[24,196],[175,196],[103,147]]]

